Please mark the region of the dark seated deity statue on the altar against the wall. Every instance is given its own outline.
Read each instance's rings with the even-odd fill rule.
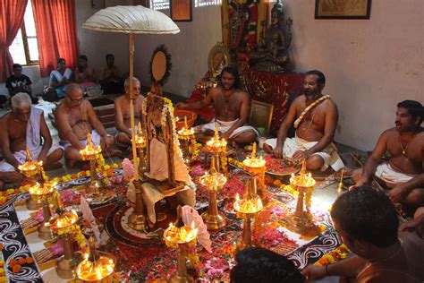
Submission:
[[[292,43],[293,20],[284,21],[284,6],[277,0],[271,10],[271,25],[267,36],[260,39],[258,51],[250,53],[250,65],[257,71],[288,73],[293,70],[288,49]]]

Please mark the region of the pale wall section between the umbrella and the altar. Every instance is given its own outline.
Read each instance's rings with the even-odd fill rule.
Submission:
[[[208,71],[210,48],[222,41],[221,7],[193,6],[192,20],[177,21],[181,31],[174,35],[136,36],[134,73],[143,85],[151,83],[148,70],[153,50],[165,44],[172,56],[173,69],[163,90],[190,97],[196,82]]]

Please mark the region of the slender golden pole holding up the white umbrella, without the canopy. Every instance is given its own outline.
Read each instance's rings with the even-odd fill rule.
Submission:
[[[135,146],[135,121],[134,121],[134,33],[130,33],[130,116],[131,116],[131,143],[132,143],[132,164],[134,165],[135,179],[140,179],[137,170],[137,148]]]

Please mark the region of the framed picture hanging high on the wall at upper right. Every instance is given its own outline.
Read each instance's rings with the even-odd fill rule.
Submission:
[[[371,0],[315,0],[315,19],[369,19]]]

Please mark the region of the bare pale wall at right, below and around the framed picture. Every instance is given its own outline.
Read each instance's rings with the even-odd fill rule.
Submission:
[[[396,104],[424,102],[424,1],[373,0],[370,20],[315,20],[315,1],[285,0],[297,71],[318,69],[338,105],[336,141],[371,150]]]

